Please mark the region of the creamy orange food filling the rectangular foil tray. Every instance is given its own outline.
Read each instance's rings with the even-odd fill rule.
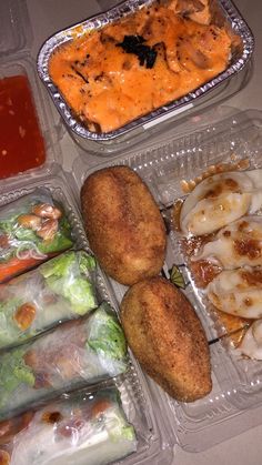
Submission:
[[[220,74],[232,40],[209,0],[163,0],[59,47],[49,73],[73,115],[107,133]]]

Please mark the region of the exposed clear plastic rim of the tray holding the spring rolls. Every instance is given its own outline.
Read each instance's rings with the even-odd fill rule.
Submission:
[[[6,189],[2,191],[0,208],[21,195],[32,192],[40,185],[49,189],[53,199],[64,205],[66,213],[73,228],[75,247],[88,250],[88,242],[81,223],[79,206],[75,203],[73,190],[68,188],[68,179],[62,170],[60,171],[60,175],[54,172],[49,173],[41,179],[28,178],[27,182],[24,182],[21,188],[16,188],[13,184],[12,189],[10,189],[10,185],[6,185]],[[100,301],[105,300],[112,307],[117,309],[117,301],[111,283],[101,270],[98,271],[97,291]],[[103,382],[99,384],[99,386],[104,386],[110,383],[111,382]],[[131,360],[128,374],[117,377],[114,384],[121,392],[123,408],[138,435],[135,461],[144,463],[154,457],[160,461],[159,463],[171,463],[174,437],[169,431],[167,419],[162,413],[161,402],[152,402],[144,375],[134,360]],[[160,459],[160,457],[162,458]],[[127,458],[127,463],[134,463],[133,461],[134,457],[132,455]]]

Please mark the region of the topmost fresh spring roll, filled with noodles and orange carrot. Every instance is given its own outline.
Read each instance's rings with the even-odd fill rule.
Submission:
[[[71,246],[67,215],[47,189],[0,209],[0,282]]]

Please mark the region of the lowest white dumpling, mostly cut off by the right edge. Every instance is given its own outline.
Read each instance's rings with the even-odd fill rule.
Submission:
[[[256,320],[246,331],[238,352],[254,360],[262,360],[262,320]]]

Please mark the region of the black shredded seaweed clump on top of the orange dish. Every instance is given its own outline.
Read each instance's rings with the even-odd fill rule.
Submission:
[[[127,53],[134,53],[139,59],[141,65],[145,68],[153,68],[158,52],[153,47],[144,44],[145,39],[142,36],[124,36],[122,42],[117,43],[117,47],[122,47]]]

